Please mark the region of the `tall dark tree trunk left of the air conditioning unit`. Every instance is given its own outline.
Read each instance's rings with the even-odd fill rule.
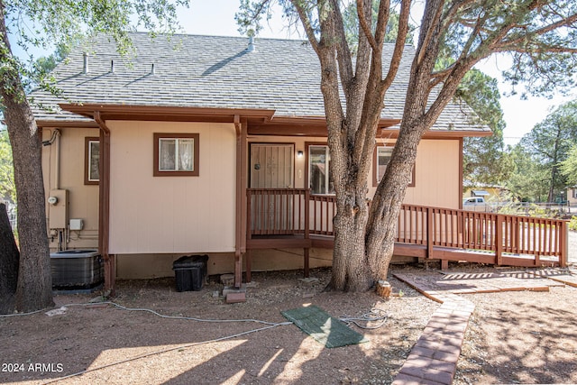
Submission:
[[[32,109],[24,96],[17,64],[5,26],[5,5],[0,0],[0,95],[14,157],[14,182],[18,195],[20,270],[16,310],[33,311],[54,306],[50,252],[46,229],[44,185],[41,168],[41,136]]]

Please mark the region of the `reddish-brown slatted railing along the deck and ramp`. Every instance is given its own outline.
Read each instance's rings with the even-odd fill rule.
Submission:
[[[247,196],[249,237],[334,235],[334,196],[310,195],[306,188],[249,188]],[[494,252],[497,264],[508,253],[565,266],[566,236],[566,221],[558,219],[403,205],[396,242],[424,246],[433,258],[435,248],[444,248]]]

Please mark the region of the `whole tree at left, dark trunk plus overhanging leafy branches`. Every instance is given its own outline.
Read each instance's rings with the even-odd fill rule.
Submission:
[[[187,0],[0,0],[0,105],[2,105],[14,158],[14,184],[18,195],[20,264],[14,306],[31,311],[52,305],[50,253],[46,229],[41,140],[25,89],[35,82],[58,94],[45,71],[50,60],[20,60],[12,45],[24,52],[32,48],[66,50],[80,35],[105,32],[118,50],[130,50],[127,32],[137,28],[172,32],[176,6]],[[10,39],[13,39],[12,41]],[[58,60],[58,58],[54,58]],[[34,70],[36,70],[34,72]],[[34,77],[34,73],[37,75]]]

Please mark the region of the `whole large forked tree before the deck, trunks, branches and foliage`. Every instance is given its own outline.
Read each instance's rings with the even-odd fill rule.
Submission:
[[[575,81],[574,0],[426,0],[398,140],[369,210],[366,183],[374,137],[383,96],[396,76],[407,39],[412,1],[377,2],[375,22],[373,2],[355,2],[359,42],[354,60],[338,0],[243,0],[237,14],[241,27],[256,24],[258,31],[273,3],[282,7],[289,20],[300,20],[321,65],[337,206],[329,285],[333,289],[365,290],[374,280],[386,280],[417,144],[476,63],[493,53],[509,52],[513,66],[508,78],[527,80],[530,91],[551,91],[554,85],[571,86]],[[383,58],[393,8],[399,14],[398,37],[393,53]],[[452,60],[444,60],[447,57]],[[389,67],[383,72],[385,62]]]

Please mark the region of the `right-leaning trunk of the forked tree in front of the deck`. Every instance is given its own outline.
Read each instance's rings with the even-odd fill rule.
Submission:
[[[412,168],[417,160],[417,146],[423,134],[441,114],[454,94],[460,78],[444,85],[444,91],[435,104],[427,108],[431,88],[431,72],[439,50],[440,10],[442,0],[426,2],[421,23],[417,54],[411,66],[405,109],[398,139],[385,175],[380,180],[371,205],[365,238],[368,261],[375,280],[386,280],[392,259],[397,233],[398,215],[405,198]],[[463,78],[466,69],[455,69]]]

